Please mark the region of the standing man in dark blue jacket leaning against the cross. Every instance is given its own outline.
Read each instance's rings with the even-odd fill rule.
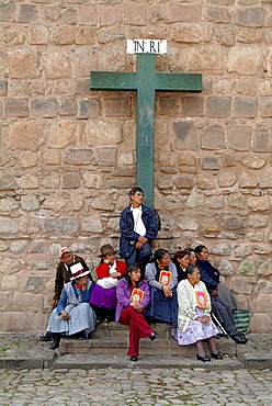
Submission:
[[[144,191],[133,188],[129,191],[132,204],[123,210],[120,218],[120,255],[125,258],[127,264],[137,262],[141,272],[151,256],[151,241],[158,234],[155,213],[144,206]]]

